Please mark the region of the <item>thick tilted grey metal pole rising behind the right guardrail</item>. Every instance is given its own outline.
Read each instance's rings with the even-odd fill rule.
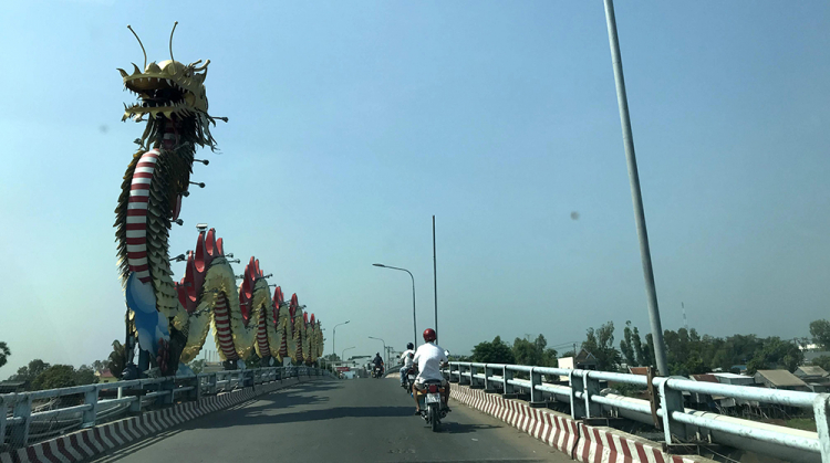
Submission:
[[[652,254],[649,248],[649,231],[645,228],[645,212],[643,210],[643,197],[640,191],[640,173],[634,155],[634,137],[631,134],[631,118],[629,117],[629,98],[625,95],[625,77],[622,71],[622,56],[620,55],[620,41],[616,36],[616,18],[614,17],[613,0],[605,0],[605,21],[608,22],[609,44],[611,45],[611,60],[614,66],[614,81],[616,82],[616,102],[620,106],[620,123],[622,124],[623,145],[625,146],[625,159],[629,164],[629,180],[631,180],[631,199],[634,202],[634,221],[636,222],[637,236],[640,238],[640,257],[643,261],[643,277],[645,278],[645,294],[649,305],[649,318],[651,320],[652,337],[654,338],[654,358],[657,361],[660,375],[668,375],[666,364],[666,348],[663,344],[663,327],[660,323],[660,307],[657,306],[657,290],[654,286],[654,270],[652,269]]]

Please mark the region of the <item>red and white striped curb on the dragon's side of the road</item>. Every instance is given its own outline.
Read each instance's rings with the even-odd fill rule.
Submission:
[[[311,377],[310,379],[314,378]],[[281,382],[274,381],[257,386],[256,390],[246,388],[205,397],[198,402],[177,403],[169,408],[85,429],[13,452],[4,452],[0,454],[0,463],[81,462],[137,439],[298,382],[300,382],[299,379],[291,378]]]

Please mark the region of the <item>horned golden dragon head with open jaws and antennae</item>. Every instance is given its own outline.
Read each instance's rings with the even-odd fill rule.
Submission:
[[[216,125],[215,119],[227,122],[226,117],[211,117],[208,114],[208,101],[205,93],[205,78],[210,60],[201,64],[198,60],[190,64],[183,64],[173,57],[173,33],[176,31],[176,22],[170,32],[170,59],[162,62],[147,64],[147,52],[144,50],[138,34],[127,25],[138,40],[144,52],[144,71],[133,63],[133,73],[118,69],[124,81],[124,88],[134,93],[137,102],[131,105],[124,104],[124,116],[122,120],[134,119],[142,122],[147,116],[149,125],[144,136],[138,140],[145,144],[153,134],[162,130],[165,120],[172,122],[181,133],[189,133],[189,139],[201,146],[215,147],[215,140],[210,135],[210,125]]]

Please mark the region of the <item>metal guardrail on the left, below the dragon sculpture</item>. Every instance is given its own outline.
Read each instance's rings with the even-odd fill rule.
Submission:
[[[267,367],[199,373],[186,378],[145,378],[33,392],[4,393],[0,394],[0,450],[7,444],[10,449],[15,449],[41,440],[37,433],[31,432],[32,428],[38,424],[49,424],[50,428],[56,424],[58,430],[49,429],[40,433],[40,436],[53,436],[77,428],[91,428],[121,414],[137,414],[148,406],[198,400],[206,394],[300,376],[331,376],[331,373],[324,369],[304,366]],[[113,390],[116,391],[115,397],[106,398],[106,396],[113,396]],[[111,391],[111,393],[102,398],[102,391]],[[35,406],[38,401],[43,400],[49,401],[48,407]],[[69,403],[61,407],[61,401]],[[81,403],[73,404],[76,402]],[[51,407],[54,408],[43,410],[43,408]]]

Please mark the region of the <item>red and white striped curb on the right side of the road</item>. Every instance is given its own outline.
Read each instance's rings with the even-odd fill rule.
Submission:
[[[453,385],[449,396],[505,421],[582,463],[703,463],[710,460],[663,453],[661,445],[611,428],[595,428],[561,413],[529,407],[480,389]]]

